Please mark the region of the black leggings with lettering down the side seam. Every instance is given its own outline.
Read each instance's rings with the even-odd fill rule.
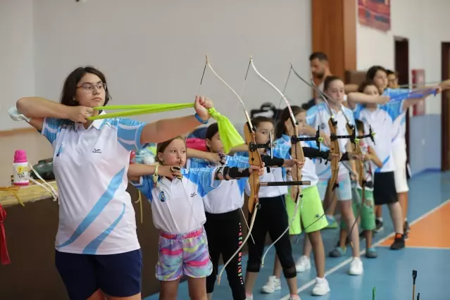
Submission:
[[[213,273],[206,277],[206,292],[209,294],[214,291],[220,254],[222,254],[223,263],[226,263],[242,244],[241,215],[239,209],[228,213],[206,213],[206,223],[204,226],[206,237],[208,237],[209,255],[213,263]],[[230,261],[225,271],[227,272],[233,299],[245,300],[241,253]]]

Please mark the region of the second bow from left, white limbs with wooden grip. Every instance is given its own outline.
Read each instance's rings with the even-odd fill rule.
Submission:
[[[295,158],[298,161],[304,161],[305,157],[304,157],[303,149],[301,148],[301,140],[299,139],[299,127],[298,127],[298,123],[296,122],[294,113],[292,112],[292,108],[291,108],[291,105],[289,104],[289,101],[287,101],[286,96],[280,91],[280,89],[275,87],[275,85],[273,85],[272,82],[267,80],[263,75],[261,75],[261,73],[258,72],[258,70],[256,69],[256,67],[254,65],[252,57],[250,58],[250,64],[251,64],[251,67],[254,69],[255,73],[259,77],[261,77],[261,79],[264,80],[268,85],[270,85],[270,87],[275,89],[275,91],[278,94],[280,94],[282,99],[285,100],[286,106],[289,109],[289,116],[290,116],[290,120],[292,122],[292,128],[293,128],[293,132],[292,132],[292,136],[291,136],[292,137],[291,147],[294,148],[293,149],[294,151],[292,151],[292,158]],[[289,71],[289,74],[290,74],[290,71]],[[288,80],[289,80],[289,76],[288,76]],[[292,168],[292,180],[294,180],[294,181],[301,181],[301,168],[298,165],[296,165],[296,166],[294,166]],[[265,251],[265,254],[261,258],[261,265],[264,265],[264,258],[268,254],[268,251],[270,250],[270,248],[272,248],[285,235],[285,233],[289,230],[289,227],[291,227],[292,223],[294,223],[294,220],[295,220],[295,217],[296,217],[296,213],[299,210],[299,204],[301,203],[301,198],[302,198],[301,185],[299,185],[297,187],[296,196],[293,199],[294,202],[295,202],[295,210],[294,210],[294,215],[292,217],[292,220],[289,222],[289,225],[287,226],[285,231],[282,232],[282,235],[280,235],[280,237],[275,239],[275,241],[272,244],[270,244],[268,249]]]

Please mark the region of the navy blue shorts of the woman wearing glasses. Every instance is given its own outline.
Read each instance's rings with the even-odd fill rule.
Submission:
[[[70,300],[86,300],[97,289],[115,297],[141,292],[141,249],[111,255],[56,251],[55,263]]]

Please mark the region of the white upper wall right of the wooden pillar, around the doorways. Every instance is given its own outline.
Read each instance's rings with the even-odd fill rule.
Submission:
[[[441,80],[441,42],[450,42],[449,10],[448,0],[392,0],[389,32],[357,24],[358,70],[371,65],[394,69],[394,36],[398,36],[409,39],[410,80],[411,69],[424,69],[427,82]],[[427,99],[426,105],[427,114],[441,113],[440,96]]]

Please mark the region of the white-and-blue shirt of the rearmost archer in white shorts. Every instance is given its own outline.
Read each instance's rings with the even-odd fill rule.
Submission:
[[[385,89],[383,96],[395,97],[392,101],[407,99],[411,89]],[[401,147],[406,149],[406,111],[403,111],[392,123],[392,144],[394,149]]]

